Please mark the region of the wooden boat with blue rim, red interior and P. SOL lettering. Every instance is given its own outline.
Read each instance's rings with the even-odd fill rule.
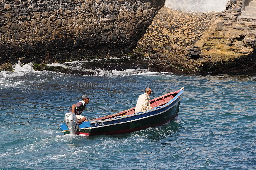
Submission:
[[[84,134],[84,135],[100,135],[100,134],[122,134],[133,132],[147,127],[155,127],[162,125],[178,115],[179,105],[184,88],[178,91],[170,92],[155,99],[150,100],[151,110],[134,113],[135,107],[128,110],[107,116],[100,116],[96,119],[82,122],[81,125],[75,123],[71,126],[67,124],[60,125],[64,134]],[[69,114],[69,115],[67,115]],[[65,118],[70,114],[67,113]],[[72,122],[72,119],[76,119],[73,114],[73,118],[67,120],[68,123]],[[65,120],[66,121],[66,120]],[[69,127],[68,127],[69,126]],[[77,126],[77,127],[76,127]]]

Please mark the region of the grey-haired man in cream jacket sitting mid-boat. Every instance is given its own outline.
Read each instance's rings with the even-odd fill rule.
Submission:
[[[149,99],[150,99],[150,94],[151,94],[152,90],[147,87],[145,89],[145,93],[141,94],[137,100],[137,104],[135,107],[135,113],[137,112],[143,112],[143,111],[147,111],[152,109],[152,107],[150,107],[150,103],[149,103]]]

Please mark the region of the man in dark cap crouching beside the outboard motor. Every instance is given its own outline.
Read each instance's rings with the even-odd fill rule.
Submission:
[[[90,97],[88,97],[87,94],[82,96],[82,101],[77,102],[76,104],[73,104],[71,106],[71,109],[69,110],[69,112],[73,112],[76,115],[77,118],[77,122],[79,124],[81,124],[82,122],[88,121],[86,119],[86,117],[82,116],[81,113],[84,111],[85,109],[85,105],[88,104],[90,102]]]

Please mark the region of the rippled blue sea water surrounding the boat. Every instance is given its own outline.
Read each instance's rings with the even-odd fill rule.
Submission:
[[[0,72],[0,169],[255,169],[255,72],[94,71],[17,64]],[[90,120],[134,107],[147,86],[151,99],[184,87],[174,121],[121,135],[64,135],[59,127],[83,94],[92,97],[82,113]]]

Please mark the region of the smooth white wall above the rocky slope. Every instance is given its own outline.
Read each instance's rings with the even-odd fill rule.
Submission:
[[[186,12],[221,12],[228,0],[166,0],[165,6]]]

